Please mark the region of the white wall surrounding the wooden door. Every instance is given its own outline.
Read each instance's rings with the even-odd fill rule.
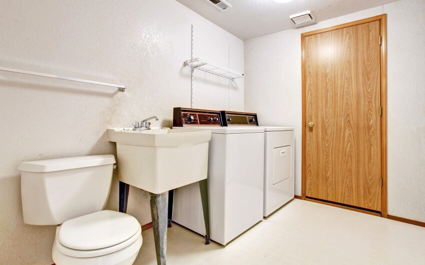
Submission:
[[[245,111],[262,125],[295,127],[295,194],[301,195],[301,36],[387,14],[388,214],[425,222],[425,3],[400,0],[245,41]]]

